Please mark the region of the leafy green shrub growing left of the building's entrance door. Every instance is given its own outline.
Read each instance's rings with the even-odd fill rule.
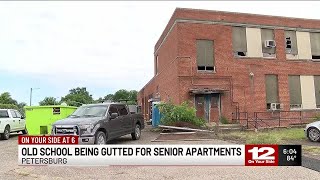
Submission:
[[[170,126],[178,122],[186,122],[197,127],[205,125],[205,120],[196,116],[196,109],[190,107],[188,102],[181,105],[174,105],[171,102],[161,103],[157,106],[162,114],[161,124]]]

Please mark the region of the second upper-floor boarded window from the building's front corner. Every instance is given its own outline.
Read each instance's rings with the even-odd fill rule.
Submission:
[[[232,28],[232,46],[235,56],[247,55],[247,33],[245,27]]]

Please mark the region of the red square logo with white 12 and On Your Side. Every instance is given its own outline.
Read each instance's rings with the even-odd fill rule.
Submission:
[[[245,145],[246,166],[278,166],[278,145]]]

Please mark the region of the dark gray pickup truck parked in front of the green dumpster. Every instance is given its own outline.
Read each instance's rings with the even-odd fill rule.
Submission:
[[[80,144],[106,144],[127,134],[138,140],[142,129],[142,114],[130,113],[122,103],[102,103],[83,105],[66,119],[56,121],[51,135],[78,135]]]

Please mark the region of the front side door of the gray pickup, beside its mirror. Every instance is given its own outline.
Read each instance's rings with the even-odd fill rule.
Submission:
[[[109,118],[109,137],[114,138],[120,136],[122,133],[122,122],[121,122],[121,116],[119,115],[118,109],[115,105],[110,105],[109,107],[109,117],[111,117],[112,113],[117,113],[118,117],[115,119],[110,119]]]

